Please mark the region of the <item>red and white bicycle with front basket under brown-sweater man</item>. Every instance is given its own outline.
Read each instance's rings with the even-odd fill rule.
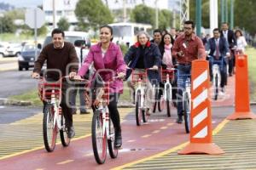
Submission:
[[[40,77],[38,95],[44,102],[43,134],[45,150],[55,150],[57,133],[60,132],[61,144],[66,147],[70,143],[67,138],[65,118],[61,112],[61,85],[62,78],[57,82],[48,82]]]

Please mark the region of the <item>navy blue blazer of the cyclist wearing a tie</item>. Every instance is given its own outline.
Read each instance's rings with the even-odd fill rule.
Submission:
[[[215,49],[216,49],[216,42],[215,42],[215,38],[212,37],[207,42],[207,51],[210,50],[209,55],[213,56]],[[219,37],[218,50],[222,57],[226,56],[226,54],[230,51],[228,47],[228,42],[224,37]]]

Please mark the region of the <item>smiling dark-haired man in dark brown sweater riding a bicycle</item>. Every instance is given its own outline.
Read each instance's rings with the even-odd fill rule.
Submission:
[[[69,75],[69,77],[75,76],[76,71],[78,70],[79,58],[73,44],[64,42],[64,31],[61,31],[58,28],[51,32],[51,37],[52,43],[49,43],[43,48],[35,62],[32,78],[40,77],[40,71],[45,60],[47,69],[50,70],[47,71],[46,74],[47,81],[56,82],[61,77],[67,75]],[[65,80],[62,82],[61,109],[66,120],[67,137],[69,139],[73,138],[75,135],[73,129],[73,109],[70,107],[71,93],[67,93],[67,89],[71,88],[71,86],[72,85]]]

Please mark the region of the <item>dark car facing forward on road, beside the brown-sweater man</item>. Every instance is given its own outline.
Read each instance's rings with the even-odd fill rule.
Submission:
[[[18,65],[19,71],[22,71],[23,68],[28,71],[30,67],[34,67],[34,63],[38,54],[40,54],[40,46],[37,47],[37,55],[35,56],[36,47],[34,44],[26,43],[21,49],[20,54],[18,54]]]

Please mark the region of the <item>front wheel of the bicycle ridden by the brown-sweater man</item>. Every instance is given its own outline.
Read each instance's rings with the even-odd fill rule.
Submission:
[[[43,117],[43,134],[45,150],[51,152],[55,150],[56,137],[58,133],[57,124],[55,123],[54,105],[45,104]]]

